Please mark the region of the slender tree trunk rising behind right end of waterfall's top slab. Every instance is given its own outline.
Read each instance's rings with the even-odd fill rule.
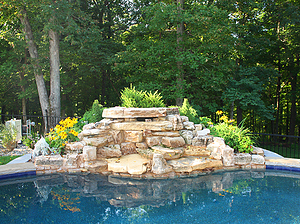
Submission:
[[[178,9],[179,17],[181,17],[181,14],[182,14],[183,4],[184,4],[184,0],[177,0],[177,9]],[[183,34],[184,34],[184,25],[183,25],[183,21],[181,21],[177,25],[177,52],[178,52],[178,55],[183,51],[183,48],[181,46],[182,40],[183,40]],[[177,93],[177,98],[176,98],[176,105],[182,106],[182,103],[183,103],[182,93],[183,93],[183,81],[184,81],[184,71],[183,71],[183,62],[182,61],[177,62],[177,69],[179,72],[179,76],[177,77],[178,93]]]

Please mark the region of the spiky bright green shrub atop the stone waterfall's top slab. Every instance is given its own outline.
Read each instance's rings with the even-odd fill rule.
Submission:
[[[152,93],[151,91],[139,91],[135,87],[125,88],[121,92],[122,107],[164,107],[162,96],[158,91]]]

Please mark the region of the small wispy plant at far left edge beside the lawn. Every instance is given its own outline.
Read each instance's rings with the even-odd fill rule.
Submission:
[[[17,139],[17,129],[9,124],[9,125],[0,125],[0,140],[2,142],[2,145],[12,150],[16,147],[16,139]]]

